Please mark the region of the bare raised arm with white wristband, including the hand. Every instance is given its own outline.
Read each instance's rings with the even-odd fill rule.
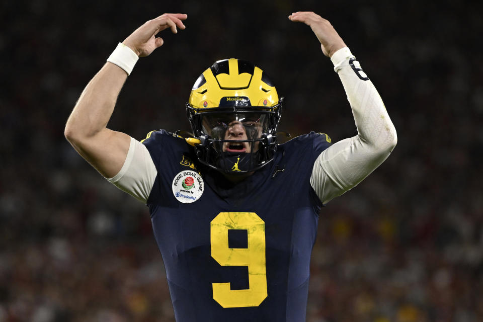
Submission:
[[[147,21],[116,48],[101,70],[91,79],[70,114],[64,135],[74,149],[104,177],[114,177],[122,168],[130,136],[108,129],[117,97],[138,57],[163,45],[156,37],[162,30],[185,29],[185,14],[164,14]]]

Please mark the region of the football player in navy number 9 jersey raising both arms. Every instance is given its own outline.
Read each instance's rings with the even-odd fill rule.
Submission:
[[[164,14],[120,43],[76,103],[65,127],[72,146],[104,177],[146,203],[176,320],[303,321],[309,261],[323,204],[356,186],[396,144],[380,96],[344,41],[312,12],[358,133],[331,145],[321,133],[277,144],[282,100],[262,69],[224,59],[195,82],[186,105],[192,137],[165,130],[141,142],[106,128],[138,57],[185,29]]]

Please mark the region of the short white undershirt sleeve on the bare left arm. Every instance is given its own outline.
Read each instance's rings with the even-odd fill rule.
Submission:
[[[146,202],[156,179],[157,171],[147,148],[131,137],[124,165],[113,178],[107,181],[134,198]]]

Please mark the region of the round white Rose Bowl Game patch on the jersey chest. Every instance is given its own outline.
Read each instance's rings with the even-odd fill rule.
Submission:
[[[200,174],[194,171],[182,171],[173,180],[173,194],[179,202],[192,203],[198,200],[205,189]]]

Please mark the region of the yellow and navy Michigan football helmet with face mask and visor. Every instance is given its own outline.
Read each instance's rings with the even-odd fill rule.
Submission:
[[[218,60],[196,80],[186,104],[200,162],[245,174],[271,162],[282,100],[267,74],[235,58]]]

